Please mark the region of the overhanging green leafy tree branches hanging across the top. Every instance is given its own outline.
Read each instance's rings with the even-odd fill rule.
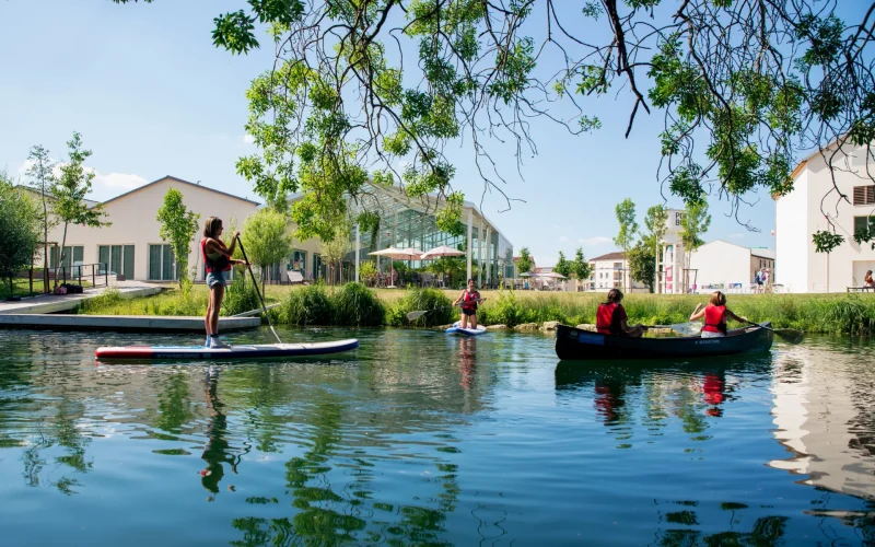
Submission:
[[[596,130],[599,97],[628,105],[627,136],[657,110],[658,179],[688,202],[727,197],[736,218],[758,189],[790,191],[801,153],[873,156],[875,3],[844,22],[838,0],[240,2],[213,44],[246,54],[266,30],[275,61],[248,92],[260,153],[237,170],[269,201],[303,193],[292,216],[310,235],[330,238],[339,198],[365,202],[369,178],[438,196],[439,225],[458,231],[450,141],[504,194],[490,144],[536,153],[533,118]]]

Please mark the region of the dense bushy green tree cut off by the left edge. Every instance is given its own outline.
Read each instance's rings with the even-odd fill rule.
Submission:
[[[39,209],[12,179],[0,172],[0,277],[9,280],[10,296],[14,294],[13,278],[31,265],[39,241]]]

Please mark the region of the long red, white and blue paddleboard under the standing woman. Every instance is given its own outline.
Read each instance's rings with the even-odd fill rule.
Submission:
[[[359,347],[359,340],[336,340],[314,344],[264,344],[208,348],[206,346],[124,346],[97,348],[94,357],[103,361],[195,361],[248,360],[284,357],[325,356]]]

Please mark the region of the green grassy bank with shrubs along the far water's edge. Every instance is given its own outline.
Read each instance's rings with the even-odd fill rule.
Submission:
[[[375,326],[411,325],[407,313],[429,310],[413,325],[452,323],[458,309],[450,307],[459,291],[372,290],[355,283],[343,287],[268,287],[271,319],[288,325]],[[557,293],[537,291],[485,291],[480,322],[509,327],[524,323],[558,321],[568,325],[594,323],[602,293]],[[623,300],[631,323],[661,325],[682,323],[707,295],[629,294]],[[771,321],[775,327],[806,333],[868,335],[875,331],[875,294],[739,294],[730,295],[728,306],[752,321]],[[222,315],[258,307],[250,284],[228,290]],[[126,315],[202,315],[207,288],[195,287],[188,295],[168,290],[156,296],[121,300],[109,292],[83,305],[80,313]]]

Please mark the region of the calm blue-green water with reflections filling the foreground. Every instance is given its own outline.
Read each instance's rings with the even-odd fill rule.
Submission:
[[[109,366],[197,338],[0,331],[0,543],[875,540],[870,342],[585,364],[539,335],[281,335],[361,348]]]

